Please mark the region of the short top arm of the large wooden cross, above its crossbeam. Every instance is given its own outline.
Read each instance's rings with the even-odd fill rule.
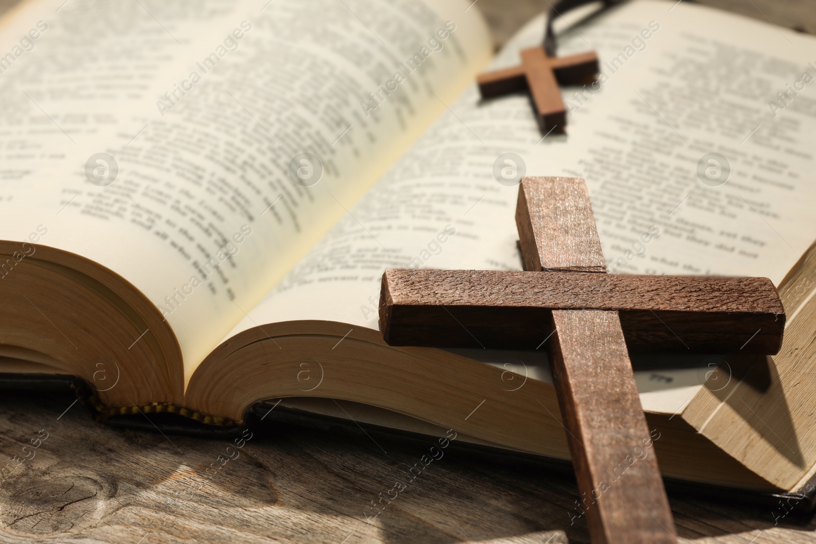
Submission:
[[[526,178],[518,192],[516,226],[525,270],[606,272],[583,179]]]

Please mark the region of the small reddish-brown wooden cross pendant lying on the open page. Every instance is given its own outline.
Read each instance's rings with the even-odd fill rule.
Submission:
[[[481,98],[494,98],[529,90],[535,117],[543,133],[562,134],[566,112],[558,86],[594,81],[598,73],[595,51],[565,57],[550,57],[543,47],[521,50],[521,65],[482,73],[477,77]]]

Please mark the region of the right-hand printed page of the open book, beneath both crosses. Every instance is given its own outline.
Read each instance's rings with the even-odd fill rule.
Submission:
[[[506,153],[526,175],[587,180],[610,272],[778,284],[816,232],[806,208],[816,125],[793,113],[810,104],[804,92],[777,117],[768,102],[800,79],[814,39],[797,35],[795,50],[772,26],[672,3],[629,3],[561,34],[561,55],[595,49],[603,73],[562,89],[566,135],[542,135],[526,95],[480,101],[471,86],[233,333],[295,319],[378,329],[386,268],[520,269]],[[517,64],[542,33],[531,22],[494,67]],[[698,175],[709,153],[730,162],[725,183],[707,177],[707,158]],[[720,360],[635,359],[644,408],[668,414]]]

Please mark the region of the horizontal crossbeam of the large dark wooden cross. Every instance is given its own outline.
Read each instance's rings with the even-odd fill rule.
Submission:
[[[785,315],[759,277],[388,270],[379,323],[392,346],[535,349],[552,310],[617,310],[627,347],[773,355]]]

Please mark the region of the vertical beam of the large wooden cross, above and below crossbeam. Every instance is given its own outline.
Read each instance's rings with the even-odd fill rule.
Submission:
[[[524,179],[516,219],[526,268],[605,272],[583,179]],[[552,378],[592,542],[676,542],[618,312],[553,310],[551,327]]]

